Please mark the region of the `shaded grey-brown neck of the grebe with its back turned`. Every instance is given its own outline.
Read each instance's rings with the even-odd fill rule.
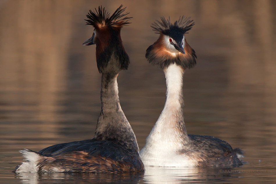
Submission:
[[[102,74],[102,106],[93,138],[117,142],[139,152],[136,137],[120,106],[117,76],[118,73]]]

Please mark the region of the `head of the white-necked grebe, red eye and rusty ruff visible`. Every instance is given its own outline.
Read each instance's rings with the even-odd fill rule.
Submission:
[[[166,20],[161,17],[161,21],[156,20],[151,27],[160,36],[153,45],[148,47],[146,51],[147,60],[162,69],[174,63],[183,69],[193,68],[196,65],[196,53],[184,36],[193,25],[193,20],[184,16],[175,21],[174,24],[171,24],[170,18]]]

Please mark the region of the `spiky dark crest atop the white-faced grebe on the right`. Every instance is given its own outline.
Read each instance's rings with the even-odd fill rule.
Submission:
[[[151,27],[153,31],[157,31],[157,33],[162,33],[164,35],[170,35],[172,32],[184,34],[195,25],[193,20],[190,20],[191,17],[179,17],[179,20],[175,21],[174,24],[171,23],[170,17],[167,20],[165,17],[160,18],[161,21],[156,20]]]

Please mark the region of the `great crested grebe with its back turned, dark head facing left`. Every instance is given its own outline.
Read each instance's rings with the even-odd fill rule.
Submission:
[[[121,40],[121,28],[129,24],[122,5],[110,16],[105,8],[89,10],[87,24],[94,33],[83,45],[96,44],[101,79],[101,112],[93,139],[56,144],[39,152],[23,149],[20,172],[143,172],[144,165],[134,132],[118,96],[117,76],[128,69],[129,57]]]

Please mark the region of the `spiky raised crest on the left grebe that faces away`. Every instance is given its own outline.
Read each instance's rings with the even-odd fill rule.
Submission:
[[[92,25],[94,28],[103,28],[105,26],[111,26],[114,28],[121,28],[123,25],[130,24],[128,20],[132,17],[125,17],[129,13],[123,13],[126,8],[121,5],[117,10],[110,16],[110,13],[106,12],[105,8],[99,6],[98,10],[92,12],[89,10],[85,19],[87,21],[86,25]]]

